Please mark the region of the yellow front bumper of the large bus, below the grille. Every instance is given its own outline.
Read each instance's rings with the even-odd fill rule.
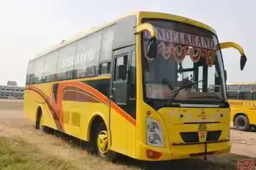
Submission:
[[[206,146],[206,147],[205,147]],[[138,143],[136,158],[139,160],[177,160],[202,155],[215,155],[230,152],[230,140],[207,141],[206,143],[171,144],[167,147],[151,147]]]

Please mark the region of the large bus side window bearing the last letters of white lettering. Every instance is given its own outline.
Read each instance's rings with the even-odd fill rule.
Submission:
[[[101,40],[102,34],[93,34],[77,42],[77,52],[74,59],[74,78],[98,75]]]

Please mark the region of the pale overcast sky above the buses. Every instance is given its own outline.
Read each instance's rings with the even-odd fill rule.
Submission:
[[[182,15],[216,29],[220,42],[238,42],[248,62],[240,71],[238,51],[224,50],[227,81],[255,81],[256,1],[247,0],[0,0],[0,84],[24,86],[28,59],[50,45],[134,10]]]

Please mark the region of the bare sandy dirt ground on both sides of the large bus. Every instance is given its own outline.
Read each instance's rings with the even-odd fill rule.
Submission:
[[[76,160],[84,150],[74,150],[69,147],[69,141],[63,141],[52,134],[43,134],[35,130],[23,114],[22,100],[0,100],[0,136],[21,136],[33,144],[37,144],[46,152],[54,152],[65,158]],[[256,132],[241,132],[231,130],[232,150],[236,155],[256,157]],[[43,142],[47,141],[47,142]],[[77,152],[80,152],[77,154]]]

